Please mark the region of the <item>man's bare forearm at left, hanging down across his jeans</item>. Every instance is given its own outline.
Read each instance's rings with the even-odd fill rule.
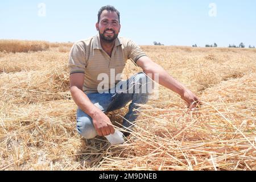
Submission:
[[[79,108],[86,114],[88,114],[91,118],[93,118],[93,116],[98,112],[101,112],[101,110],[98,109],[98,107],[92,104],[92,102],[89,100],[86,94],[82,92],[82,90],[80,90],[76,86],[72,86],[70,91],[71,96],[75,101],[76,105],[79,106]]]

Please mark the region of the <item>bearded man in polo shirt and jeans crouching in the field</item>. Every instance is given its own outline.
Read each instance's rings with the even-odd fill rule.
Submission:
[[[102,7],[96,23],[98,35],[75,43],[69,55],[70,91],[79,107],[77,131],[86,139],[113,134],[115,129],[105,113],[120,109],[130,101],[129,112],[124,116],[122,125],[125,129],[133,125],[138,117],[138,105],[148,101],[147,86],[151,84],[151,79],[147,75],[152,75],[153,80],[158,75],[159,84],[178,93],[191,108],[199,102],[195,94],[147,57],[137,44],[119,38],[120,28],[118,10],[109,5]],[[127,81],[117,78],[109,82],[106,78],[113,77],[113,74],[114,78],[118,77],[127,59],[133,60],[143,72]],[[105,78],[103,81],[102,74]],[[143,80],[146,80],[146,84],[143,84]]]

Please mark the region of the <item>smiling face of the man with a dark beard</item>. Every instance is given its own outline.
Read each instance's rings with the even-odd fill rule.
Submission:
[[[100,33],[100,38],[106,42],[113,42],[120,31],[118,15],[113,11],[104,10],[100,16],[100,22],[96,23],[96,28]]]

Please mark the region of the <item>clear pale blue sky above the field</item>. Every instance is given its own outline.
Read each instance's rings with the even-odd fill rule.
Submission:
[[[43,12],[39,3],[46,5],[46,16],[38,15]],[[139,45],[156,41],[166,46],[204,47],[214,42],[220,47],[241,42],[256,46],[255,0],[3,0],[0,39],[76,42],[89,38],[97,34],[98,10],[108,4],[121,13],[120,35]]]

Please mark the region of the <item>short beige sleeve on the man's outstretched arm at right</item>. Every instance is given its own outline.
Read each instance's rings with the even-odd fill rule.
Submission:
[[[136,63],[136,61],[142,57],[142,56],[147,56],[146,53],[144,53],[135,42],[132,40],[129,40],[127,44],[127,50],[128,50],[128,59],[131,59]]]

